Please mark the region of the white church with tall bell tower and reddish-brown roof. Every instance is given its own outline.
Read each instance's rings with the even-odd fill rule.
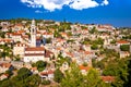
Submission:
[[[36,26],[35,20],[33,20],[31,25],[31,45],[25,48],[24,62],[49,61],[52,52],[46,50],[44,47],[36,46]]]

